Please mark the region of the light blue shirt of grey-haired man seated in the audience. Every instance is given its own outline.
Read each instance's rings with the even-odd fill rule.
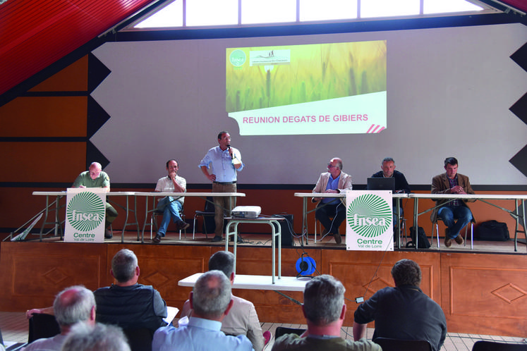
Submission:
[[[152,340],[152,351],[254,350],[246,335],[225,335],[220,328],[222,322],[191,316],[186,326],[164,326],[157,329]]]

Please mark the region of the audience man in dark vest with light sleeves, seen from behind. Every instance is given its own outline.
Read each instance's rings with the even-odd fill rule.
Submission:
[[[138,283],[140,269],[133,251],[123,249],[111,259],[111,276],[116,283],[95,290],[97,321],[123,329],[166,326],[166,302],[151,285]]]

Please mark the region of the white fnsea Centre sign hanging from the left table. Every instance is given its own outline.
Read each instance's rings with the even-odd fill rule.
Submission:
[[[64,242],[104,242],[106,190],[68,188]]]

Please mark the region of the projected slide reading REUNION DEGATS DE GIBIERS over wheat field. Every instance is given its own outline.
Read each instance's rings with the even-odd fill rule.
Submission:
[[[226,49],[226,111],[241,135],[379,133],[385,40]]]

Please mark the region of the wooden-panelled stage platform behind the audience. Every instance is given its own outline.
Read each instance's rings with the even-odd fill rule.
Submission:
[[[236,273],[268,276],[271,271],[270,235],[242,232],[238,245]],[[30,236],[31,238],[31,236]],[[33,238],[37,238],[36,236]],[[224,250],[224,242],[212,243],[212,235],[169,233],[161,243],[137,241],[136,231],[106,240],[103,244],[65,243],[59,238],[44,238],[43,242],[1,242],[0,311],[22,312],[32,307],[52,304],[54,295],[69,285],[83,284],[95,290],[112,283],[109,274],[111,257],[126,247],[139,259],[140,283],[154,285],[167,304],[183,306],[190,288],[178,286],[178,281],[207,269],[211,254]],[[343,238],[344,241],[344,238]],[[390,269],[399,259],[417,261],[423,270],[423,292],[442,306],[447,316],[449,332],[486,335],[525,336],[527,331],[527,254],[514,242],[474,242],[440,250],[433,245],[428,250],[401,249],[393,252],[351,252],[344,244],[337,245],[331,237],[301,247],[282,249],[282,276],[296,276],[296,261],[303,253],[317,265],[315,274],[331,274],[346,287],[349,313],[345,325],[353,324],[356,297],[368,299],[375,291],[392,286]],[[305,244],[305,242],[304,242]],[[299,324],[303,321],[299,291],[235,289],[234,293],[253,301],[261,322]],[[289,298],[291,297],[291,299]]]

